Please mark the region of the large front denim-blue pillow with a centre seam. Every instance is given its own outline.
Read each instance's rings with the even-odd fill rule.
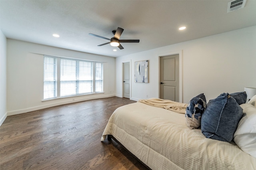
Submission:
[[[201,130],[206,138],[230,142],[233,139],[243,109],[228,93],[210,100],[201,119]]]

